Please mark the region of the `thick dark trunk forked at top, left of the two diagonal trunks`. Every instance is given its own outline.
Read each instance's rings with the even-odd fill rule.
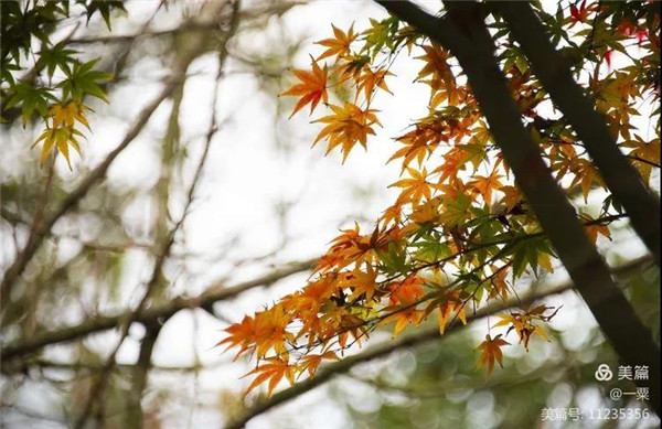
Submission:
[[[522,125],[521,111],[494,57],[494,43],[483,21],[484,9],[476,2],[447,1],[448,13],[438,19],[408,1],[377,2],[458,58],[517,185],[602,332],[624,364],[648,365],[651,379],[659,380],[660,348],[611,280],[607,265]],[[639,384],[644,386],[641,380]],[[660,414],[658,383],[650,392],[651,407]]]

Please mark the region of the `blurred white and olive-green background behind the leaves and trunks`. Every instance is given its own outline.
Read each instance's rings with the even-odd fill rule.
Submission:
[[[85,58],[99,57],[99,66],[116,79],[106,88],[109,104],[89,103],[93,131],[83,146],[85,155],[74,157],[72,170],[63,160],[55,162],[47,199],[44,183],[51,172],[39,167],[38,150],[30,150],[41,125],[23,128],[15,121],[0,128],[2,270],[24,245],[39,204],[57,206],[76,189],[175,74],[192,41],[202,37],[204,46],[105,180],[44,238],[8,303],[1,340],[7,346],[41,339],[135,307],[154,281],[154,265],[174,232],[150,305],[273,274],[275,281],[205,309],[181,310],[158,326],[134,323],[88,425],[132,427],[138,414],[149,428],[224,427],[265,398],[256,393],[242,399],[249,378],[241,377],[252,362],[235,361],[232,352],[215,347],[222,330],[303,286],[307,261],[320,256],[340,228],[354,222],[370,226],[391,204],[396,191],[388,185],[399,174],[398,165],[386,163],[396,148],[391,138],[426,114],[428,89],[412,85],[416,61],[397,62],[388,82],[396,96],[381,94],[376,100],[383,129],[367,151],[355,150],[343,164],[338,153],[324,155],[321,144],[311,149],[320,126],[305,114],[288,119],[293,100],[278,95],[293,83],[291,67],[305,68],[310,54],[322,52],[313,42],[330,36],[331,23],[344,30],[354,23],[361,30],[370,18],[386,17],[380,7],[350,0],[245,0],[236,28],[223,22],[225,15],[207,15],[200,1],[127,0],[126,9],[127,14],[111,17],[111,32],[100,17],[85,23],[72,9],[53,35],[66,39]],[[656,169],[653,181],[659,181]],[[591,195],[585,210],[598,212],[600,202],[600,195]],[[621,267],[620,285],[659,342],[658,268],[626,223],[613,224],[612,240],[600,238],[599,246],[610,265]],[[519,288],[566,281],[559,268]],[[490,378],[474,372],[474,347],[489,323],[481,320],[442,340],[357,365],[258,415],[247,427],[659,427],[655,417],[542,419],[549,407],[645,408],[644,403],[609,399],[610,387],[632,386],[596,382],[599,364],[616,368],[618,363],[578,296],[568,291],[545,303],[563,305],[547,330],[551,342],[532,341],[530,353],[506,347],[504,368]],[[120,336],[117,329],[95,330],[3,362],[2,427],[72,426]],[[386,328],[366,347],[388,341]]]

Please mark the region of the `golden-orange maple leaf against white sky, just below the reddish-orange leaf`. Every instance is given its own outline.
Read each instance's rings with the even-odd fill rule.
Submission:
[[[367,136],[375,135],[373,125],[381,125],[373,109],[361,109],[352,103],[345,103],[342,107],[329,105],[333,115],[324,116],[313,122],[328,124],[317,136],[312,146],[316,146],[320,140],[328,140],[329,147],[327,154],[335,147],[341,147],[343,153],[343,162],[346,160],[352,148],[360,142],[363,148],[366,148]]]

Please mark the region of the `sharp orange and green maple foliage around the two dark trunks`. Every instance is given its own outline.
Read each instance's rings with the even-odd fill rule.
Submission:
[[[587,2],[569,11],[559,6],[556,15],[537,12],[549,32],[563,35],[576,51],[574,57],[581,61],[574,68],[578,81],[597,100],[648,183],[660,163],[660,128],[655,138],[643,138],[631,126],[631,117],[639,115],[638,103],[651,96],[659,99],[660,88],[649,78],[659,74],[659,33],[649,29],[659,28],[659,14],[630,15],[618,3],[598,9]],[[598,25],[598,20],[616,13],[628,20],[630,30]],[[588,32],[594,25],[598,30]],[[504,36],[500,17],[492,26],[512,95],[555,179],[577,205],[581,199],[586,202],[594,190],[607,191],[598,216],[581,207],[577,216],[594,243],[599,235],[610,238],[608,224],[622,215],[619,205],[575,131],[551,116],[546,92],[519,47]],[[644,30],[647,36],[641,39]],[[633,37],[638,37],[636,54],[628,47]],[[333,26],[333,37],[319,44],[325,50],[311,57],[311,69],[293,71],[299,83],[282,95],[299,98],[292,115],[308,105],[311,115],[320,106],[330,111],[313,120],[324,126],[314,143],[325,141],[328,153],[339,148],[344,161],[356,143],[366,147],[380,126],[378,110],[373,108],[376,95],[391,94],[389,66],[404,52],[420,64],[414,84],[429,87],[428,114],[395,138],[401,147],[388,162],[402,162],[402,178],[392,184],[399,195],[374,227],[362,230],[356,224],[342,230],[301,290],[226,329],[220,344],[236,346],[238,354],[250,353],[258,361],[249,373],[257,377],[248,390],[268,380],[270,394],[282,378],[293,383],[303,373],[312,376],[323,361],[339,358],[380,325],[393,324],[395,336],[435,313],[444,334],[447,326],[466,323],[468,311],[516,297],[513,288],[520,277],[554,270],[551,244],[446,50],[394,17],[371,20],[360,33],[353,25],[348,31]],[[629,63],[618,69],[600,68],[607,49],[626,52]],[[655,116],[659,121],[659,109],[651,114]],[[556,311],[536,305],[501,315],[490,330],[508,326],[508,331],[485,336],[477,348],[478,367],[487,366],[490,374],[494,362],[502,364],[501,348],[509,344],[502,336],[511,331],[526,351],[534,334],[548,340],[541,324]]]

